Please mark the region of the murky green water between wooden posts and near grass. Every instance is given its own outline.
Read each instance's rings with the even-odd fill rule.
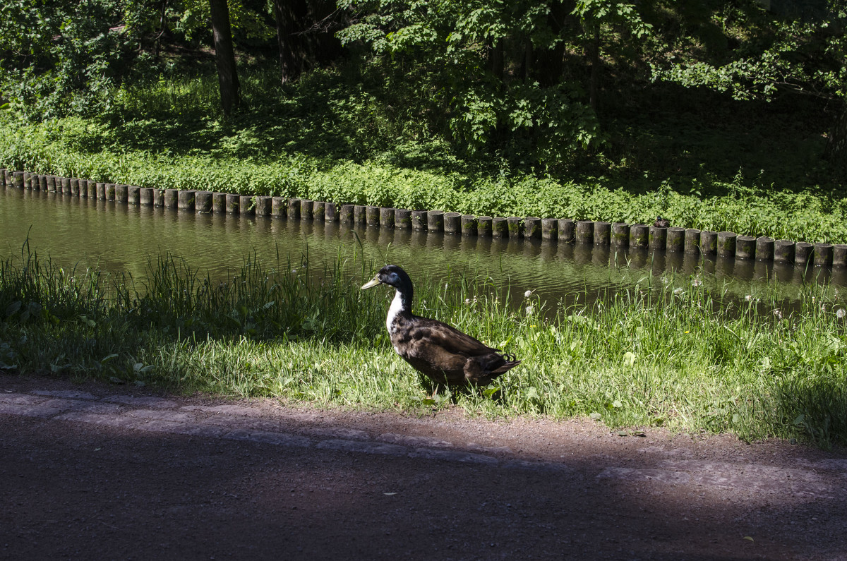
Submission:
[[[195,214],[176,209],[127,205],[50,192],[0,189],[0,257],[20,255],[27,236],[30,248],[65,268],[97,266],[129,272],[143,281],[148,259],[171,253],[192,268],[224,277],[247,256],[268,267],[309,265],[321,269],[340,257],[364,257],[376,267],[398,264],[412,280],[449,284],[455,273],[490,278],[509,286],[512,297],[533,291],[550,302],[575,293],[589,301],[598,293],[646,283],[682,286],[703,282],[730,297],[776,290],[794,299],[804,283],[847,286],[844,269],[807,270],[786,264],[735,259],[704,260],[665,252],[633,252],[584,244],[537,240],[498,240],[476,236],[433,235],[420,231],[353,228],[320,221],[288,221],[231,214]],[[350,274],[361,276],[358,267]],[[653,277],[650,279],[650,273]],[[367,280],[367,279],[357,279]]]

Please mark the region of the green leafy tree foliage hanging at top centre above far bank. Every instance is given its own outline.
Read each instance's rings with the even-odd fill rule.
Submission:
[[[567,40],[549,22],[553,4],[451,1],[424,8],[348,0],[340,7],[358,19],[338,35],[348,46],[368,48],[394,80],[412,81],[410,103],[434,125],[445,115],[452,139],[468,153],[506,147],[554,166],[600,134],[579,83],[542,85],[518,68],[531,64],[520,62],[526,42],[549,50]],[[503,76],[491,66],[495,50],[508,59]]]

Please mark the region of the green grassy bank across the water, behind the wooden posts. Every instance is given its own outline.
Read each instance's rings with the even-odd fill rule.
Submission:
[[[844,190],[811,164],[820,142],[792,143],[803,135],[785,136],[778,119],[722,115],[721,128],[710,114],[656,108],[661,127],[618,116],[609,127],[625,142],[590,164],[534,169],[462,157],[337,71],[283,89],[272,72],[248,69],[242,84],[246,109],[232,119],[210,112],[217,78],[205,74],[110,92],[110,109],[87,118],[3,114],[0,167],[477,215],[634,224],[661,214],[701,230],[847,242]]]

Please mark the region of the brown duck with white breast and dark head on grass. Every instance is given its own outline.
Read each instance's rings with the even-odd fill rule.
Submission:
[[[412,314],[414,288],[407,272],[386,265],[362,286],[393,286],[385,327],[391,345],[418,372],[443,386],[488,386],[491,380],[521,364],[512,353],[488,347],[451,325]]]

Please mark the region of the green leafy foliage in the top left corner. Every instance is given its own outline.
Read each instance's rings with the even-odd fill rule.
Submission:
[[[3,2],[0,91],[14,111],[31,119],[108,112],[114,87],[155,80],[173,69],[158,57],[158,47],[149,48],[164,34],[195,46],[209,41],[208,11],[206,0]],[[264,0],[230,1],[235,34],[245,41],[273,37],[263,12],[267,16]]]

